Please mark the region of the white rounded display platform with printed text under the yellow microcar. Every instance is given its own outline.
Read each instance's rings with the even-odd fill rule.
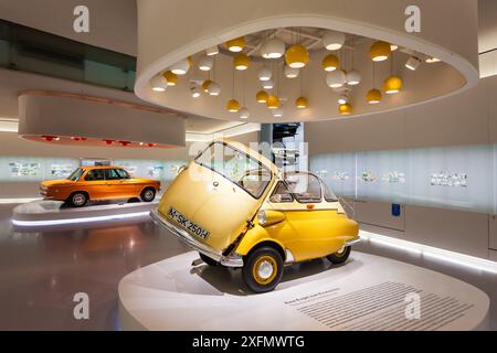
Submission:
[[[241,270],[192,268],[197,253],[144,267],[119,284],[125,330],[486,330],[489,298],[455,278],[352,252],[346,265],[326,259],[285,268],[275,291],[253,295]],[[421,298],[408,320],[406,296]],[[412,306],[409,306],[412,309]],[[415,310],[409,310],[415,314]]]

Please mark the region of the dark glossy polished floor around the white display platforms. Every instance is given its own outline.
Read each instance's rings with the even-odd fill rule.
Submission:
[[[12,208],[0,205],[0,330],[119,330],[119,280],[139,267],[189,250],[148,217],[20,232],[11,225]],[[490,324],[497,330],[497,275],[382,246],[362,244],[358,249],[434,269],[480,288],[491,299]],[[319,261],[303,267],[303,276],[322,268]],[[89,296],[89,320],[74,318],[73,298],[78,292]]]

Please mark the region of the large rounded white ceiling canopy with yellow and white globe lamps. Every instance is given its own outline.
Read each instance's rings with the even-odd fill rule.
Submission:
[[[400,109],[478,81],[470,1],[222,3],[187,11],[179,0],[138,2],[140,98],[212,118],[288,122]],[[406,31],[410,6],[420,32]]]

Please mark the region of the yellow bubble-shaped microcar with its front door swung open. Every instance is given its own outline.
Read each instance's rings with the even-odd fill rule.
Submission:
[[[184,169],[152,218],[211,266],[242,268],[255,292],[276,288],[284,265],[345,263],[359,242],[334,193],[313,173],[282,174],[242,143],[216,140]]]

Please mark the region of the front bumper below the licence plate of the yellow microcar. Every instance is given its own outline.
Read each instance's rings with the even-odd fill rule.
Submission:
[[[150,217],[154,220],[154,222],[175,234],[181,242],[191,246],[197,252],[202,253],[203,255],[220,263],[221,265],[226,267],[243,267],[243,258],[241,256],[224,256],[222,252],[214,250],[210,246],[200,243],[187,231],[181,229],[180,227],[177,227],[166,221],[165,217],[159,214],[158,210],[150,211]]]

